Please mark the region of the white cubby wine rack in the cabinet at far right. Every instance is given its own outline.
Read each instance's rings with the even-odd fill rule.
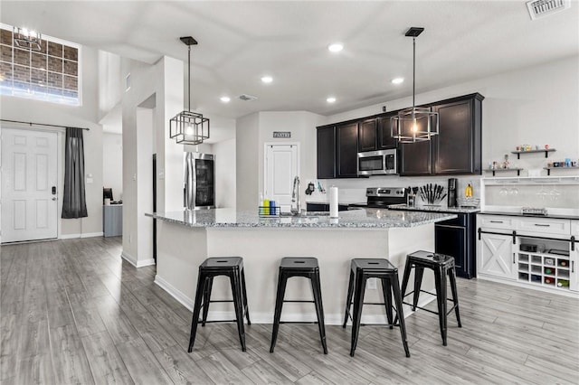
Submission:
[[[519,281],[569,290],[571,261],[569,256],[565,255],[565,250],[524,251],[519,249],[517,255]]]

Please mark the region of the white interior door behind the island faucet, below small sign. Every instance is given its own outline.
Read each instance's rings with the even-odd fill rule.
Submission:
[[[299,174],[298,145],[266,145],[264,198],[273,200],[281,211],[291,209],[293,179]]]

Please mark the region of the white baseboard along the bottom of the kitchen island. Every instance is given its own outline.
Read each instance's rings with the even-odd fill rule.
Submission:
[[[190,312],[193,312],[193,307],[195,305],[195,300],[186,296],[185,293],[177,289],[175,286],[169,284],[165,279],[159,277],[158,275],[155,276],[155,283],[157,286],[161,287],[165,290],[169,295],[173,296],[177,302],[181,305],[184,305]],[[419,301],[419,306],[424,306],[431,301],[434,300],[434,296],[422,296],[422,300]],[[250,308],[250,319],[252,320],[252,324],[272,324],[273,323],[273,313],[254,313],[252,312],[252,304],[248,304]],[[409,315],[413,315],[413,311],[409,305],[403,305],[403,312],[404,318],[407,318]],[[210,311],[209,315],[207,316],[208,321],[214,320],[234,320],[235,313],[234,311],[230,312],[223,312],[223,311]],[[313,309],[312,304],[312,311],[308,314],[304,313],[287,313],[284,312],[281,316],[282,321],[289,321],[289,322],[313,322],[317,321],[316,312]],[[324,315],[324,324],[332,324],[332,325],[341,325],[344,323],[344,314],[339,315]],[[385,324],[386,315],[362,315],[362,324]],[[351,321],[348,321],[348,324],[352,324]]]

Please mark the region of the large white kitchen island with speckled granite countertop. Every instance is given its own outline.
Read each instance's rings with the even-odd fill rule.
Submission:
[[[192,309],[199,265],[208,257],[242,257],[252,322],[271,324],[278,267],[282,257],[315,257],[319,261],[322,299],[327,324],[341,324],[346,305],[351,258],[388,258],[402,276],[406,255],[434,249],[434,223],[455,214],[361,209],[299,217],[261,218],[257,212],[214,209],[147,214],[157,220],[157,277],[155,282]],[[401,277],[402,280],[402,277]],[[382,290],[369,285],[366,301],[382,302]],[[433,289],[425,274],[423,288]],[[287,299],[311,299],[305,278],[292,278]],[[214,281],[212,299],[231,298],[224,277]],[[433,297],[422,296],[421,302]],[[380,300],[380,301],[377,301]],[[366,306],[363,321],[382,323],[382,306]],[[233,306],[211,305],[209,319],[233,319]],[[312,304],[284,305],[282,320],[316,319]]]

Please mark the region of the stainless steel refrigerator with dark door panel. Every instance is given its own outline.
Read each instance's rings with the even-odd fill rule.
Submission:
[[[185,209],[215,207],[215,156],[185,153]]]

